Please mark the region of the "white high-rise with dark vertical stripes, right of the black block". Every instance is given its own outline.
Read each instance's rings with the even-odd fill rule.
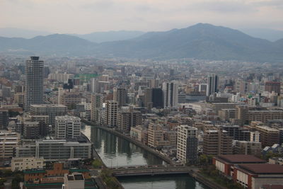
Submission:
[[[178,104],[178,84],[174,81],[163,82],[162,91],[164,108],[173,107]]]

